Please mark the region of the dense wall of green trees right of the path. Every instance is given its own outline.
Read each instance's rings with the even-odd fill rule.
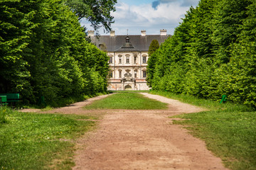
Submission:
[[[256,1],[201,0],[151,56],[154,90],[256,106]]]

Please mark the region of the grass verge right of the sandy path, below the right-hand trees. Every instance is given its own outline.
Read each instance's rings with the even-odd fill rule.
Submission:
[[[256,112],[249,106],[198,99],[166,91],[152,91],[210,111],[176,115],[174,123],[185,125],[191,134],[206,142],[206,146],[233,170],[256,169]],[[172,117],[172,118],[174,118]]]

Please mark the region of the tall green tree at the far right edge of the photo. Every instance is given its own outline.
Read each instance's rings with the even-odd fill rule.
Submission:
[[[246,18],[242,20],[238,42],[231,47],[230,62],[225,69],[222,82],[228,84],[225,93],[239,103],[256,106],[256,2],[246,7]],[[228,82],[227,82],[228,81]]]

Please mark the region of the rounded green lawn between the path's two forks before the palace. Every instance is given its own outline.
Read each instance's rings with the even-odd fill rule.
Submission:
[[[161,103],[154,99],[146,98],[142,94],[123,91],[122,93],[112,94],[100,101],[95,101],[85,106],[85,109],[132,109],[150,110],[166,109],[168,104]]]

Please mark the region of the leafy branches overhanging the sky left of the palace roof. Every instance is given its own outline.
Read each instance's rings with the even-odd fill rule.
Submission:
[[[115,11],[114,4],[117,0],[66,0],[66,3],[73,9],[79,20],[86,18],[95,30],[101,27],[100,24],[105,30],[111,30],[114,17],[110,12]]]

